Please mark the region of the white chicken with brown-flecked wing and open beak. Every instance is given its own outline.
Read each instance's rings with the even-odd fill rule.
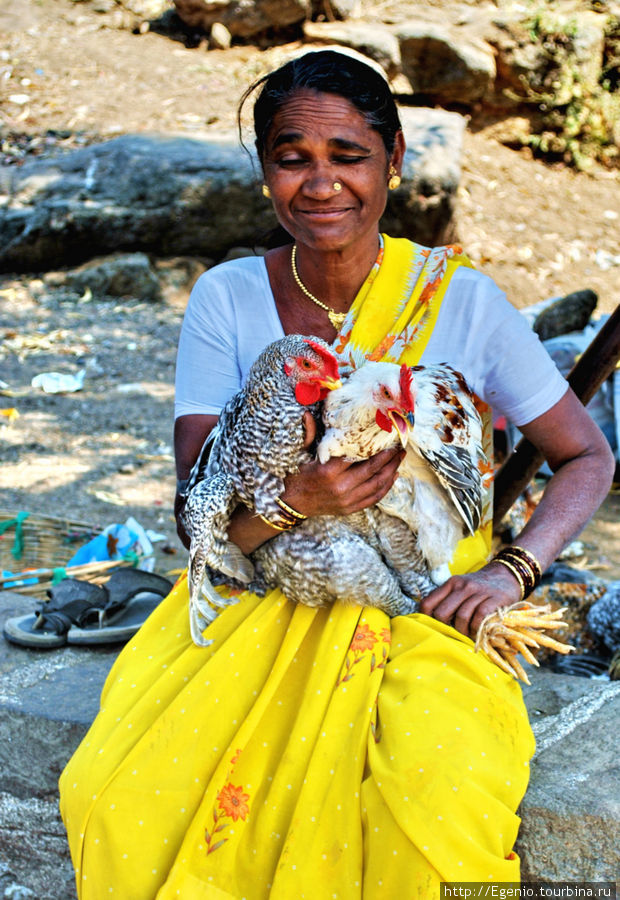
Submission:
[[[362,459],[383,449],[392,427],[398,429],[407,453],[378,507],[417,536],[424,571],[441,583],[450,574],[447,564],[458,541],[480,524],[486,463],[480,416],[465,379],[446,364],[399,370],[394,363],[375,363],[372,368],[372,377],[365,365],[326,399],[325,435],[317,455],[322,462],[331,456]],[[388,392],[402,392],[408,384],[413,427],[389,415],[377,414],[373,421],[377,381]]]

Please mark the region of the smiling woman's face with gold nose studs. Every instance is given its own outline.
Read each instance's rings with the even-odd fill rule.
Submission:
[[[403,149],[399,133],[390,160],[379,132],[343,97],[298,91],[265,141],[265,181],[280,223],[319,250],[342,250],[376,234],[389,164],[400,174]]]

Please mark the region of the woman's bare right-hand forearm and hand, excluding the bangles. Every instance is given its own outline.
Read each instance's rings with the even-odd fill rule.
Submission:
[[[612,483],[614,458],[600,429],[570,389],[521,431],[544,453],[554,473],[514,541],[533,553],[544,571],[604,500]],[[485,616],[519,597],[515,577],[505,566],[490,562],[471,575],[448,579],[420,608],[473,637]]]

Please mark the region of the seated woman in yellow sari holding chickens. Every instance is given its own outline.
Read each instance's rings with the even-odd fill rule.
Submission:
[[[405,149],[383,78],[322,51],[258,84],[264,189],[291,242],[217,266],[194,289],[179,346],[179,479],[284,333],[319,335],[354,365],[447,361],[555,472],[516,542],[526,575],[536,559],[545,568],[609,488],[604,439],[456,248],[380,236]],[[311,463],[283,499],[306,516],[363,509],[400,458]],[[182,579],[119,657],[62,776],[79,896],[426,900],[441,881],[518,880],[515,810],[533,738],[519,686],[470,636],[519,600],[524,569],[487,563],[486,509],[423,614],[245,592],[197,648]],[[275,533],[245,509],[229,531],[246,553]]]

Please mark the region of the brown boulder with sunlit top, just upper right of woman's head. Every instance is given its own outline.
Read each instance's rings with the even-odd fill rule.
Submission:
[[[414,93],[471,105],[491,90],[495,54],[476,34],[427,19],[402,22],[395,34]]]

